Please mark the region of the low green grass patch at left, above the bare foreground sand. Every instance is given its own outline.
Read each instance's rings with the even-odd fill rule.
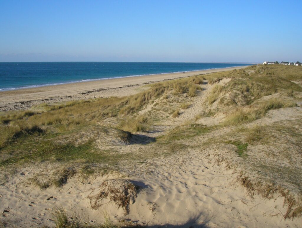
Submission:
[[[79,128],[78,131],[81,131]],[[89,129],[87,129],[89,130]],[[59,133],[22,135],[0,150],[0,166],[24,165],[37,162],[80,162],[114,165],[127,157],[113,149],[98,149],[93,140],[83,143],[58,143]],[[67,135],[67,137],[69,134]]]

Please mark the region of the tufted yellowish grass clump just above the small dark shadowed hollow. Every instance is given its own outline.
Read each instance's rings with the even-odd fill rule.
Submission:
[[[140,115],[137,118],[127,118],[122,120],[118,125],[118,128],[127,132],[147,131],[150,129],[151,121],[144,115]]]

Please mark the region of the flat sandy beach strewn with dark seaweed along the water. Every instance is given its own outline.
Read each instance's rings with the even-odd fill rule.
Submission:
[[[56,103],[80,99],[90,99],[109,96],[128,96],[140,91],[142,85],[164,80],[178,79],[193,75],[242,69],[247,66],[153,74],[143,76],[128,76],[103,80],[73,82],[58,85],[47,85],[0,92],[0,111],[26,109],[41,103]]]

